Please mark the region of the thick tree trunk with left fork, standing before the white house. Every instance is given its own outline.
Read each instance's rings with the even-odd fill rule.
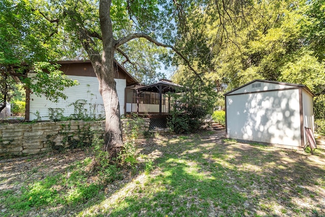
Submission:
[[[94,42],[91,39],[91,33],[79,24],[79,40],[88,53],[91,65],[99,81],[99,91],[103,98],[105,109],[105,144],[104,151],[110,153],[111,158],[123,146],[122,127],[120,117],[120,106],[116,92],[116,82],[114,81],[114,53],[118,46],[113,37],[112,21],[110,18],[111,0],[100,1],[100,24],[102,32],[103,53],[100,55],[98,50],[94,49]],[[96,35],[98,37],[98,35]]]

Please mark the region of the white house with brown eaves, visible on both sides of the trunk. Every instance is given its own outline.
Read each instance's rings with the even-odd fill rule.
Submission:
[[[41,120],[49,119],[49,112],[61,112],[63,116],[69,116],[76,113],[76,104],[83,105],[83,109],[89,115],[96,117],[104,115],[103,99],[99,92],[99,82],[95,76],[89,60],[69,60],[58,61],[61,65],[60,70],[71,79],[77,80],[79,85],[72,86],[64,90],[68,96],[67,100],[61,99],[58,103],[53,103],[45,97],[38,97],[30,91],[26,91],[26,113],[25,120],[35,120],[41,117]],[[115,61],[117,96],[120,102],[120,113],[125,110],[125,87],[137,83],[136,79],[130,75],[120,64]],[[28,73],[27,76],[32,76]],[[78,107],[78,106],[77,106]],[[54,109],[54,110],[53,110]]]

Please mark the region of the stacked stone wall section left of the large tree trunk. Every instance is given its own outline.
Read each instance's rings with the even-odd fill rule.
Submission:
[[[69,146],[68,138],[79,140],[92,130],[103,136],[104,121],[59,121],[0,125],[0,156],[34,154],[51,146]],[[64,144],[62,144],[64,143]]]

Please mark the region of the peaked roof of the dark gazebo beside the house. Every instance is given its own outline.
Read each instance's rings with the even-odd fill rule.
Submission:
[[[148,92],[159,92],[161,88],[161,93],[165,94],[166,92],[181,92],[181,89],[184,89],[182,85],[173,83],[167,79],[160,79],[157,83],[150,84],[148,86],[140,87],[138,91],[148,91]]]

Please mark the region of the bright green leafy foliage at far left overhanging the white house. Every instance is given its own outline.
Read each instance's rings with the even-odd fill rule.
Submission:
[[[56,21],[37,11],[38,4],[38,1],[4,0],[0,5],[0,111],[17,89],[12,77],[53,101],[66,98],[63,89],[77,84],[57,67],[44,63],[62,58],[65,52],[58,46],[62,35],[58,33]],[[25,76],[29,71],[37,75],[29,79]]]

